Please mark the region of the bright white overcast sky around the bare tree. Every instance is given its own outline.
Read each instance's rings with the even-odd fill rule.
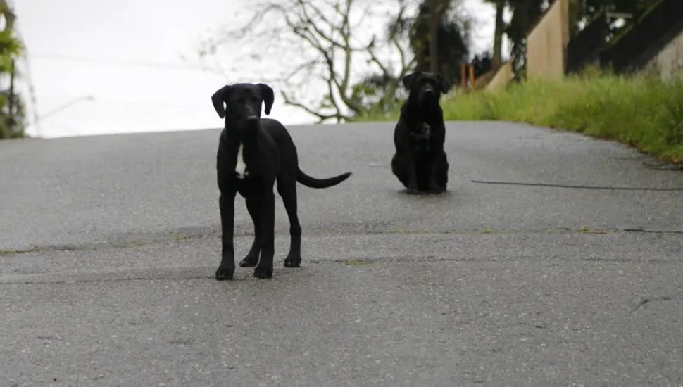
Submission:
[[[464,1],[480,20],[474,43],[482,51],[492,42],[494,9],[481,0]],[[196,53],[201,37],[234,18],[239,4],[235,0],[15,1],[37,115],[44,117],[39,135],[220,127],[222,120],[210,96],[225,79],[191,68],[181,56]],[[277,63],[277,59],[270,61]],[[249,69],[231,74],[244,77],[232,82],[258,82],[262,76]],[[25,91],[26,82],[19,87]],[[93,96],[94,101],[82,100],[85,96]],[[279,95],[270,117],[285,124],[314,121],[285,106]],[[31,125],[27,132],[37,134],[37,126]]]

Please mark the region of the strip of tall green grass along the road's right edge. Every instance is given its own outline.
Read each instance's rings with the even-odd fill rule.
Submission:
[[[683,162],[683,77],[618,76],[596,69],[563,80],[527,80],[441,101],[446,120],[526,122],[618,141]],[[396,120],[389,116],[363,120]]]

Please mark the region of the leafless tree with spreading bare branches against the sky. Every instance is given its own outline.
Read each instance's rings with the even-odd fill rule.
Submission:
[[[387,34],[387,25],[414,5],[411,0],[247,0],[244,9],[253,12],[243,23],[235,26],[239,20],[231,20],[213,32],[199,54],[229,59],[232,75],[258,75],[259,82],[279,85],[284,103],[319,122],[349,121],[373,103],[394,101],[413,57],[405,39]],[[357,90],[368,77],[388,80],[374,100]]]

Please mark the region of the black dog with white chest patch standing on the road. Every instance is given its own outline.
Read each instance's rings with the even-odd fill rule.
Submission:
[[[277,120],[261,119],[262,103],[269,115],[274,100],[272,89],[261,83],[227,85],[211,96],[216,113],[225,118],[216,156],[222,229],[220,265],[215,272],[218,280],[232,279],[234,275],[234,198],[238,192],[246,201],[254,226],[253,244],[239,266],[256,267],[254,277],[270,278],[275,254],[275,182],[289,217],[291,241],[284,267],[299,267],[301,225],[296,215],[296,182],[311,188],[327,188],[351,176],[351,172],[346,172],[329,179],[315,179],[303,173],[287,129]]]

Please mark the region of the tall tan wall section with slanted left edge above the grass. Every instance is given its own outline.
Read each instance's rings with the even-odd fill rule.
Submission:
[[[569,0],[556,0],[527,35],[527,77],[564,77],[568,43]]]

